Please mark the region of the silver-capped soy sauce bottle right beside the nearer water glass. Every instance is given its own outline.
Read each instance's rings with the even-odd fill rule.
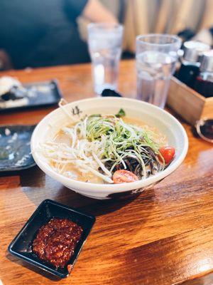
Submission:
[[[185,41],[183,43],[183,56],[180,58],[181,66],[177,78],[187,86],[194,86],[195,78],[199,73],[200,57],[209,45],[200,41]]]

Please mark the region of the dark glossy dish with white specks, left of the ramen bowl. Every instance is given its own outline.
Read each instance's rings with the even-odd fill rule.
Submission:
[[[0,172],[25,170],[35,165],[31,135],[35,125],[0,125]]]

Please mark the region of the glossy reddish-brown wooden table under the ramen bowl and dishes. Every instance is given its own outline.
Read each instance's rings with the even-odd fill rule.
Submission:
[[[67,101],[91,97],[89,64],[10,71],[23,83],[58,78]],[[133,97],[133,61],[121,63],[119,90]],[[38,123],[53,108],[0,115],[1,124]],[[0,177],[0,279],[4,285],[213,284],[213,149],[183,123],[190,148],[185,162],[136,199],[89,199],[62,187],[38,167]],[[72,274],[58,280],[12,257],[9,242],[43,199],[97,217]]]

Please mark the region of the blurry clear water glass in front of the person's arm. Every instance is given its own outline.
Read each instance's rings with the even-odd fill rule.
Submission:
[[[109,88],[116,90],[123,26],[119,24],[89,24],[88,45],[92,60],[94,91],[101,94]]]

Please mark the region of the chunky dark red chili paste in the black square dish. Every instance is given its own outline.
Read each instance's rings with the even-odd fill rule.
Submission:
[[[38,230],[33,240],[33,252],[48,264],[63,268],[74,254],[82,232],[82,227],[69,219],[50,219]]]

